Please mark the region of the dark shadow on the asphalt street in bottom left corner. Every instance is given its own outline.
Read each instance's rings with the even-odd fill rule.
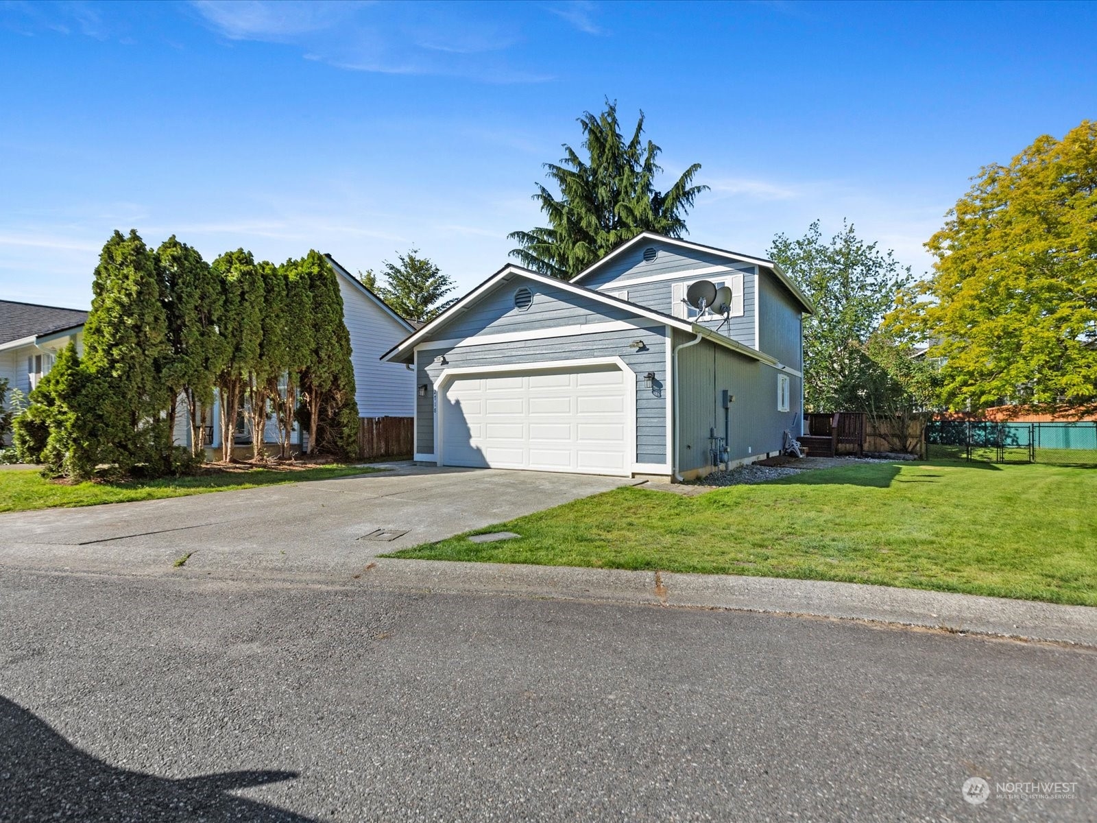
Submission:
[[[292,780],[295,771],[225,771],[173,780],[116,768],[77,748],[33,712],[3,697],[0,773],[2,816],[11,821],[314,820],[229,793]]]

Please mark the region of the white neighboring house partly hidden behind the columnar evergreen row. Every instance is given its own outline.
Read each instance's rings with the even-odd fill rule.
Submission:
[[[339,280],[343,301],[343,322],[350,332],[351,362],[354,367],[355,399],[362,417],[406,417],[415,410],[415,374],[393,363],[380,360],[382,352],[402,340],[415,327],[397,315],[330,255],[328,262]],[[9,377],[12,388],[30,392],[43,374],[49,371],[56,353],[77,340],[83,353],[83,322],[87,312],[71,308],[35,306],[0,301],[0,377]],[[191,441],[185,404],[180,404],[176,422],[176,442]],[[217,409],[207,418],[213,424],[207,439],[212,447],[220,443]],[[251,442],[250,421],[242,415],[234,432],[237,442]],[[265,442],[278,442],[275,421],[264,431]]]

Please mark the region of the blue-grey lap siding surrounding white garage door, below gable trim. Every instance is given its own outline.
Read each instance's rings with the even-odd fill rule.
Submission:
[[[439,332],[449,337],[446,331]],[[636,461],[665,463],[666,452],[666,348],[665,327],[633,328],[592,335],[575,335],[544,340],[517,340],[505,345],[465,346],[460,348],[420,349],[417,353],[417,383],[427,384],[427,396],[418,399],[416,415],[416,451],[434,453],[433,391],[445,369],[488,365],[516,365],[550,360],[585,360],[620,357],[636,373]],[[629,347],[643,340],[647,347],[637,351]],[[436,362],[445,356],[446,363]],[[652,387],[644,384],[644,374],[655,372]]]

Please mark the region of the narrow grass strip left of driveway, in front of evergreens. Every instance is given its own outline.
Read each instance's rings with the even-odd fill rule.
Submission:
[[[206,494],[207,492],[230,492],[279,483],[349,477],[354,474],[367,474],[376,471],[382,470],[332,464],[315,469],[251,469],[200,474],[192,477],[66,485],[47,481],[33,469],[11,469],[0,471],[0,511],[27,511],[56,506],[97,506],[101,503],[156,500],[163,497],[183,497]]]

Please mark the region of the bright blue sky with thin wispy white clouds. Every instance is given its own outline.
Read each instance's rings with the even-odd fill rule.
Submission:
[[[992,161],[1097,116],[1093,3],[0,2],[0,297],[84,307],[114,228],[207,259],[411,246],[461,291],[575,119],[700,162],[689,237],[847,218],[921,272]]]

